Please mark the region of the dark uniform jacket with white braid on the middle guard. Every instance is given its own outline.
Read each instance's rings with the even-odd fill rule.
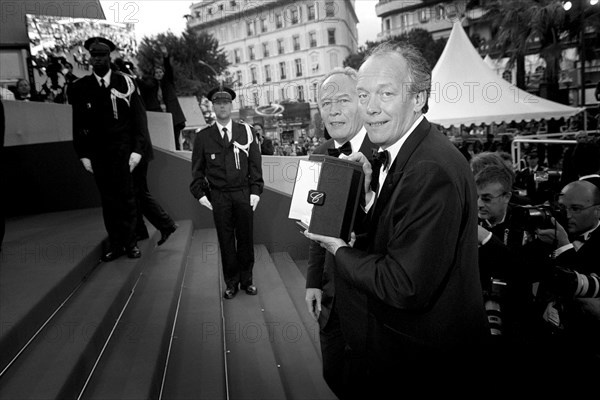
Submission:
[[[222,191],[250,188],[250,194],[260,195],[263,191],[262,158],[256,132],[248,154],[239,152],[240,169],[237,169],[233,142],[248,143],[246,126],[232,122],[232,140],[225,147],[216,122],[202,129],[194,141],[192,152],[192,183],[190,191],[196,199],[208,194],[209,188]],[[208,186],[207,186],[208,184]]]

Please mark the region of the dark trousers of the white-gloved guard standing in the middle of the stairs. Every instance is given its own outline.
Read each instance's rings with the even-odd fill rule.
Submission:
[[[223,276],[227,286],[252,284],[254,267],[253,214],[250,189],[211,191]]]

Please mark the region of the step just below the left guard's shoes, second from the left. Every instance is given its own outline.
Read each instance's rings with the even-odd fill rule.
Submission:
[[[115,321],[129,298],[145,262],[156,246],[139,243],[142,257],[101,263],[44,330],[6,371],[0,399],[76,397]]]

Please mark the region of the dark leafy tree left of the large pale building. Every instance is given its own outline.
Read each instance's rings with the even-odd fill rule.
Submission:
[[[144,37],[138,49],[138,68],[151,74],[155,65],[162,65],[161,46],[171,56],[175,76],[175,90],[179,96],[200,96],[218,85],[215,74],[199,61],[210,65],[220,75],[229,66],[218,41],[205,32],[196,33],[187,28],[181,37],[172,32]]]

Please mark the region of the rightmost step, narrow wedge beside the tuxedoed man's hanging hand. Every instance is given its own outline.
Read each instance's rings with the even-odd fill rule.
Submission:
[[[308,312],[306,307],[306,277],[301,272],[299,264],[307,264],[306,260],[295,261],[289,253],[273,253],[271,254],[273,262],[279,271],[279,275],[283,280],[288,294],[302,319],[304,329],[309,333],[309,337],[317,350],[319,358],[321,358],[321,342],[319,340],[319,323]]]

